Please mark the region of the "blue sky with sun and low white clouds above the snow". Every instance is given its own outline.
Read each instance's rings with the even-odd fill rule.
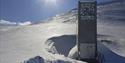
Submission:
[[[0,20],[39,21],[77,7],[77,0],[47,1],[50,0],[0,0]]]

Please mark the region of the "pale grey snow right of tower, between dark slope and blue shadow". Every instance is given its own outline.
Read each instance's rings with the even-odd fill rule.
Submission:
[[[123,23],[125,24],[125,23]],[[100,23],[97,25],[98,34],[105,35],[102,37],[102,42],[110,50],[117,53],[120,56],[125,57],[125,26],[124,25],[107,25]]]

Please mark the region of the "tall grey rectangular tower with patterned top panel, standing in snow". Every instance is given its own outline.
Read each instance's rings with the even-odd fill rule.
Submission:
[[[97,57],[97,2],[78,3],[78,51],[79,58],[91,61]]]

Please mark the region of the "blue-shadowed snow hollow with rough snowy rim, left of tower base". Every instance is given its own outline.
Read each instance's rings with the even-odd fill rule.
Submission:
[[[45,54],[30,58],[23,63],[86,63],[66,57],[71,48],[75,46],[75,41],[75,35],[61,35],[48,38],[44,44]]]

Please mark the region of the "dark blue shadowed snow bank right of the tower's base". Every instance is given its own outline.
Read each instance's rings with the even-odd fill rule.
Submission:
[[[115,46],[115,45],[114,45]],[[120,56],[112,51],[111,48],[98,41],[99,59],[102,63],[124,63],[125,57]]]

